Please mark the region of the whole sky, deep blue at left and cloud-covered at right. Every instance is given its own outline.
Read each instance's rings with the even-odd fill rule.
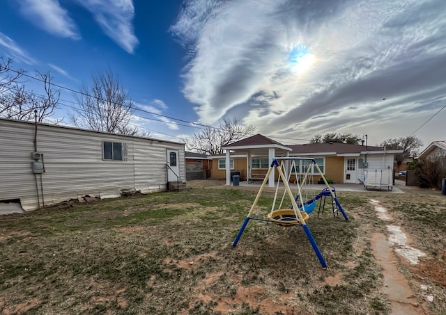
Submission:
[[[446,105],[445,16],[444,0],[6,0],[0,56],[74,90],[110,68],[139,108],[170,118],[237,117],[285,144],[337,131],[374,145]],[[68,124],[74,98],[61,92],[54,118]],[[199,131],[136,114],[155,138]],[[445,121],[446,109],[415,136],[444,140]]]

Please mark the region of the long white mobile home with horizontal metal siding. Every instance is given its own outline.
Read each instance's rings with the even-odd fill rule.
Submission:
[[[20,200],[25,210],[166,191],[186,178],[183,143],[0,118],[0,148],[0,201]]]

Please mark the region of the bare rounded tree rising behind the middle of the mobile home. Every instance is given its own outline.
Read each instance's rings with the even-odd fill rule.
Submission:
[[[130,124],[134,102],[118,76],[108,70],[93,74],[91,79],[91,88],[83,86],[82,94],[75,95],[78,107],[69,114],[70,120],[79,128],[137,135],[138,128]]]

